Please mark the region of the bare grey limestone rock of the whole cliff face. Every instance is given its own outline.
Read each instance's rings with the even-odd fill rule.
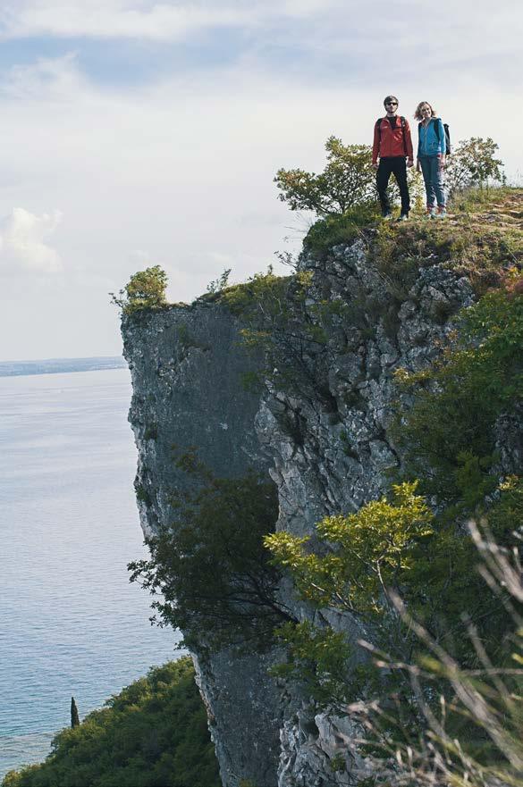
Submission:
[[[313,534],[325,515],[358,510],[401,465],[389,431],[393,372],[434,358],[452,314],[472,302],[468,280],[434,264],[399,295],[359,241],[335,247],[321,263],[305,255],[301,266],[313,273],[305,307],[311,321],[320,302],[343,308],[333,310],[325,343],[308,348],[306,379],[291,391],[269,385],[259,395],[241,386],[240,374],[259,369],[262,359],[246,354],[240,322],[219,303],[124,319],[144,531],[170,521],[170,498],[186,483],[173,465],[173,444],[198,447],[217,475],[248,466],[269,473],[279,494],[277,527],[298,534]],[[283,594],[305,614],[290,589]],[[330,622],[351,638],[362,633],[347,616]],[[242,779],[257,787],[358,783],[365,764],[350,753],[350,719],[317,713],[307,698],[284,691],[267,676],[274,657],[195,654],[225,787]],[[330,766],[339,751],[342,773]]]

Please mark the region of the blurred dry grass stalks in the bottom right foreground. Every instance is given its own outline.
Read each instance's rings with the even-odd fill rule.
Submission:
[[[521,510],[519,511],[521,514]],[[519,520],[520,522],[520,520]],[[373,759],[373,785],[386,787],[519,787],[523,781],[523,629],[520,610],[520,548],[502,548],[488,528],[472,522],[471,534],[482,562],[483,592],[503,599],[510,624],[495,660],[473,624],[468,640],[477,668],[468,669],[434,640],[401,599],[395,599],[405,625],[423,648],[416,661],[398,664],[387,654],[376,654],[376,666],[388,674],[408,676],[416,698],[420,724],[417,734],[405,736],[387,710],[360,705],[367,730],[380,744]]]

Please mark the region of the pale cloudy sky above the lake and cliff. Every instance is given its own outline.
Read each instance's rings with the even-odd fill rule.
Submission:
[[[522,30],[515,0],[0,0],[0,361],[119,355],[108,293],[149,265],[190,301],[296,252],[275,172],[370,143],[388,93],[522,185]]]

